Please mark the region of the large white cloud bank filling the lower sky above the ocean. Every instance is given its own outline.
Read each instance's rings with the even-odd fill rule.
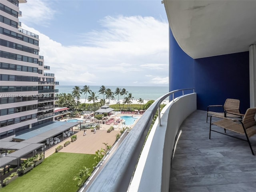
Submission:
[[[168,85],[167,22],[141,16],[108,16],[100,22],[103,30],[80,33],[84,46],[63,46],[23,28],[39,35],[39,54],[60,85]]]

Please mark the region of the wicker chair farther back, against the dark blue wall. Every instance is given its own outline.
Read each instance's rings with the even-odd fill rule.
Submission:
[[[240,100],[238,99],[226,99],[226,102],[224,105],[209,105],[207,107],[207,117],[206,117],[206,122],[208,122],[208,117],[209,116],[218,116],[218,117],[238,117],[242,119],[242,116],[244,114],[240,114],[239,110],[240,106]],[[210,108],[223,108],[223,112],[213,112],[209,111]]]

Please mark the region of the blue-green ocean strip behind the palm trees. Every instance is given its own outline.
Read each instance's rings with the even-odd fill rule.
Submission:
[[[81,89],[83,86],[79,86]],[[96,92],[96,96],[99,96],[98,99],[103,99],[103,95],[99,94],[101,86],[90,86],[90,90],[92,92]],[[134,100],[142,98],[143,100],[156,100],[160,96],[163,96],[164,94],[168,93],[168,87],[161,87],[161,86],[105,86],[106,89],[110,88],[112,92],[116,91],[116,88],[119,87],[120,89],[125,88],[128,93],[132,93],[132,96],[134,97]],[[56,89],[59,90],[58,93],[71,93],[74,86],[56,86]],[[87,94],[88,98],[88,94]],[[81,94],[80,99],[85,99],[85,95]],[[118,99],[118,96],[115,96],[115,99]],[[119,99],[124,99],[124,96],[119,96]]]

